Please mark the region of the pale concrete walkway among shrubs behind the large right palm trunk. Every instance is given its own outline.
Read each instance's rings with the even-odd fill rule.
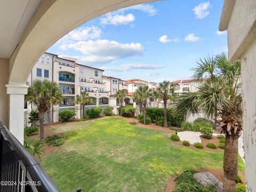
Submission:
[[[201,139],[200,139],[200,132],[194,132],[194,131],[182,131],[182,132],[178,132],[178,135],[180,137],[181,141],[189,141],[191,144],[194,144],[196,142],[200,142],[201,143]],[[218,133],[213,133],[213,136],[218,136],[220,134]],[[222,134],[224,135],[224,134]],[[239,137],[238,139],[238,154],[242,157],[243,161],[244,161],[244,149],[243,149],[243,145],[244,145],[244,141],[243,141],[243,133],[241,135],[241,137]]]

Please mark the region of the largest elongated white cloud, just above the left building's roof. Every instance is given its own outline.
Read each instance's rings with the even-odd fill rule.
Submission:
[[[76,43],[63,44],[62,49],[74,49],[83,53],[77,56],[82,63],[108,63],[115,59],[126,58],[143,53],[143,46],[140,43],[119,43],[107,39],[95,41],[79,41]]]

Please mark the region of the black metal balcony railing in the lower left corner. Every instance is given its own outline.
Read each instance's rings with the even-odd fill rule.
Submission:
[[[0,191],[60,191],[1,121],[0,130]]]

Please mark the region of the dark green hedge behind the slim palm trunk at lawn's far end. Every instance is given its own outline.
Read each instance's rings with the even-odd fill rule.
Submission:
[[[151,118],[153,123],[161,124],[161,119],[164,117],[163,108],[147,108],[147,116]],[[159,120],[160,119],[160,120]],[[167,124],[180,127],[181,123],[185,121],[185,116],[179,115],[174,109],[167,109]]]

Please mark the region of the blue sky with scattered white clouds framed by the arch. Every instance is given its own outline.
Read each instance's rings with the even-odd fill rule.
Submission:
[[[85,23],[47,52],[122,79],[189,78],[200,58],[227,52],[226,32],[218,31],[222,5],[172,0],[128,7]]]

